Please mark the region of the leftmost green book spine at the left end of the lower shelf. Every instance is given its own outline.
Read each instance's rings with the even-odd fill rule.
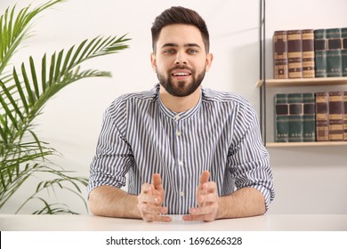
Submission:
[[[286,93],[275,95],[275,141],[287,142],[289,134],[289,106]]]

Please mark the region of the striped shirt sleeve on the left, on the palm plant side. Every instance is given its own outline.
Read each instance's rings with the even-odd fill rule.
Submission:
[[[96,154],[90,166],[88,196],[101,185],[125,186],[125,174],[133,165],[133,152],[125,139],[125,131],[125,100],[118,99],[103,115]]]

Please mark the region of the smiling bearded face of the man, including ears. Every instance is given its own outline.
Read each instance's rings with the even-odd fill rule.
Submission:
[[[157,52],[151,55],[152,68],[160,84],[176,97],[195,92],[211,62],[212,54],[206,54],[198,28],[184,24],[163,28],[157,40]]]

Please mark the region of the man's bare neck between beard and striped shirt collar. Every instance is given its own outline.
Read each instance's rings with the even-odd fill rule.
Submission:
[[[186,97],[175,97],[166,92],[165,89],[160,86],[160,100],[163,102],[166,108],[169,108],[173,112],[180,113],[190,108],[195,107],[200,100],[201,86],[198,89]]]

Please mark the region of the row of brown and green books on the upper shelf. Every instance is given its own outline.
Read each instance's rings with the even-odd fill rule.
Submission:
[[[347,28],[277,30],[274,77],[347,76]]]

